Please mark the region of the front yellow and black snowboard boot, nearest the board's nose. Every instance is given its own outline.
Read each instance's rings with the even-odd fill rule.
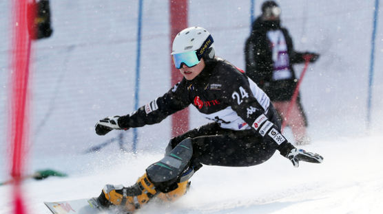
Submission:
[[[147,178],[147,174],[144,174],[131,187],[105,185],[98,200],[105,207],[114,205],[127,213],[133,213],[156,194],[154,185]]]

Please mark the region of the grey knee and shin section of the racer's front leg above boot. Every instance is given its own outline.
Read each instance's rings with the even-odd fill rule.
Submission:
[[[172,141],[169,142],[167,150],[170,147],[172,147]],[[179,182],[189,180],[194,172],[202,166],[195,167],[191,163],[192,157],[192,140],[191,138],[184,139],[172,150],[167,151],[160,161],[147,167],[147,176],[159,191],[163,193],[172,191],[178,187]]]

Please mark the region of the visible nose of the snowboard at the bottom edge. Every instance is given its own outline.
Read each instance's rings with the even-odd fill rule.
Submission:
[[[108,213],[103,209],[96,198],[83,198],[79,200],[68,200],[62,202],[44,202],[48,209],[54,214],[97,214]]]

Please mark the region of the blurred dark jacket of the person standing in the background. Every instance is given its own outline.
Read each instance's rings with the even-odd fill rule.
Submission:
[[[289,57],[289,70],[291,78],[287,80],[273,80],[272,49],[267,32],[278,30],[282,32],[287,45]],[[253,22],[253,30],[245,43],[246,74],[262,88],[271,101],[290,100],[296,88],[297,78],[293,64],[304,62],[303,53],[294,51],[293,41],[286,28],[280,27],[279,21],[263,21],[258,17]]]

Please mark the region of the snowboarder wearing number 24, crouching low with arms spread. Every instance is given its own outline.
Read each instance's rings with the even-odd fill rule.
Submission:
[[[106,185],[98,198],[103,206],[133,212],[154,196],[172,200],[185,193],[189,178],[203,165],[258,165],[276,150],[294,167],[300,160],[322,162],[322,156],[298,150],[284,138],[269,97],[243,71],[215,56],[206,29],[183,29],[171,54],[183,80],[129,115],[101,119],[96,133],[159,123],[190,104],[212,122],[171,139],[163,159],[147,167],[131,187]]]

